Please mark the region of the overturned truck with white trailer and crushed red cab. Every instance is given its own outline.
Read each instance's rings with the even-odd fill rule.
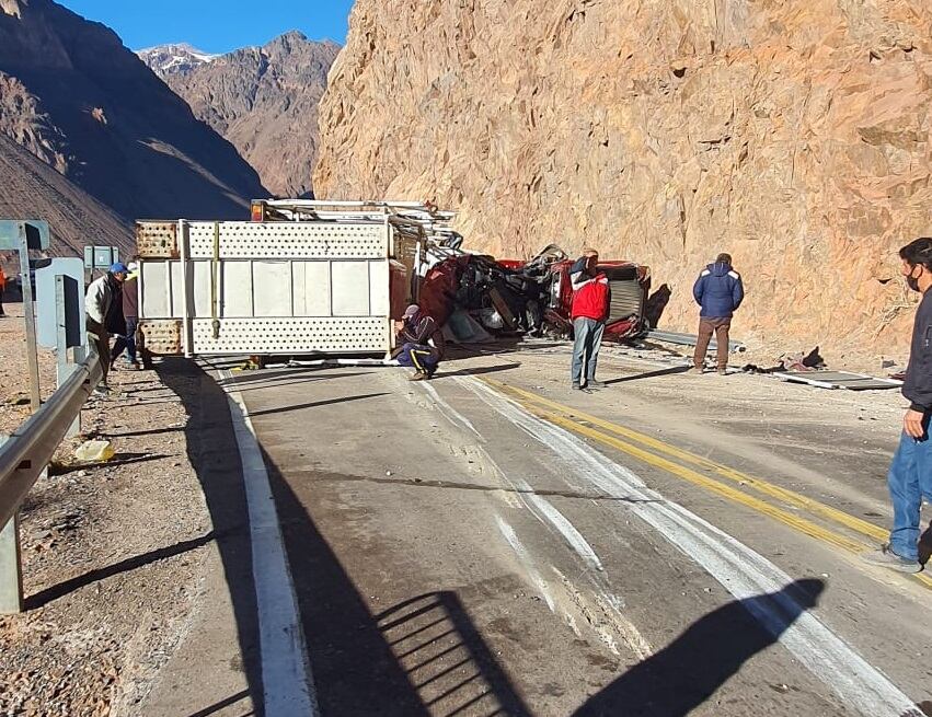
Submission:
[[[419,203],[263,200],[251,221],[137,222],[145,350],[386,357],[413,301],[450,327],[469,315],[493,334],[569,331],[562,251],[530,262],[472,254],[452,219]],[[599,268],[612,289],[607,335],[640,335],[649,273]]]

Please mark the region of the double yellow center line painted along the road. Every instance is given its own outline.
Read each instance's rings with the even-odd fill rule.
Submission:
[[[728,500],[746,506],[762,514],[769,516],[770,518],[773,518],[774,520],[785,525],[789,525],[794,530],[804,533],[805,535],[814,537],[829,545],[840,547],[841,550],[847,551],[849,553],[858,555],[863,553],[868,546],[861,541],[852,540],[832,530],[822,528],[821,525],[818,525],[817,523],[814,523],[810,520],[807,520],[786,510],[772,506],[769,502],[766,502],[753,496],[749,496],[746,493],[743,493],[741,490],[733,488],[714,478],[710,478],[705,475],[702,475],[701,473],[697,473],[692,469],[689,469],[684,465],[675,463],[666,458],[651,453],[649,451],[646,451],[643,448],[638,448],[633,443],[623,441],[620,438],[615,438],[614,436],[608,435],[606,432],[602,432],[601,430],[597,430],[596,428],[582,424],[579,423],[579,420],[584,420],[586,423],[603,427],[619,436],[625,436],[628,438],[634,436],[635,438],[633,438],[633,440],[638,440],[645,446],[656,447],[656,450],[666,452],[669,455],[680,458],[680,460],[690,462],[694,465],[713,470],[720,475],[723,475],[723,477],[729,478],[732,481],[740,481],[741,483],[747,484],[749,487],[753,487],[762,494],[769,495],[774,498],[780,498],[781,500],[786,500],[787,502],[791,502],[792,505],[795,505],[799,508],[812,510],[813,512],[836,520],[837,522],[840,522],[854,530],[858,530],[855,525],[858,525],[859,522],[864,523],[865,525],[870,525],[872,529],[871,532],[864,530],[863,527],[861,530],[859,530],[859,532],[867,534],[871,537],[879,537],[881,540],[883,540],[887,536],[887,533],[885,531],[877,528],[876,525],[873,525],[872,523],[861,521],[860,519],[853,516],[849,516],[848,513],[844,513],[840,510],[830,508],[829,506],[826,506],[825,504],[821,504],[817,500],[806,498],[805,496],[796,494],[792,490],[785,490],[783,488],[769,484],[766,481],[761,481],[760,478],[751,478],[750,476],[745,476],[738,471],[733,471],[727,466],[720,465],[717,463],[714,463],[713,461],[709,461],[706,459],[703,459],[702,456],[695,455],[694,453],[690,453],[689,451],[682,451],[649,436],[638,433],[637,431],[633,431],[622,426],[618,426],[596,416],[589,416],[585,413],[576,410],[575,408],[561,405],[556,402],[550,401],[549,398],[544,398],[543,396],[538,396],[537,394],[530,393],[522,389],[507,385],[500,383],[499,381],[495,381],[494,379],[487,379],[484,377],[482,377],[481,380],[492,385],[493,388],[511,395],[514,398],[518,400],[518,402],[523,405],[526,409],[530,410],[536,416],[543,418],[544,420],[548,420],[556,426],[565,428],[580,436],[585,436],[586,438],[590,438],[610,448],[614,448],[619,451],[628,453],[629,455],[632,455],[638,459],[640,461],[647,463],[648,465],[658,467],[663,471],[666,471],[667,473],[683,478],[684,481],[688,481],[693,485],[698,485],[702,488],[705,488],[706,490],[710,490],[711,493],[722,496]],[[554,407],[556,410],[549,410],[544,408],[544,406]],[[737,476],[743,477],[738,478]],[[849,520],[839,520],[839,516]],[[879,533],[879,535],[877,535],[877,533]],[[925,585],[925,587],[932,588],[932,577],[923,574],[918,574],[914,577],[920,582]]]

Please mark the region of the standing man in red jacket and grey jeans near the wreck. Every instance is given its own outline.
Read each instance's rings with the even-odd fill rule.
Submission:
[[[599,253],[594,248],[583,250],[583,256],[576,259],[569,269],[569,282],[573,286],[573,303],[569,316],[573,319],[573,365],[571,378],[573,388],[582,390],[601,389],[605,383],[596,381],[596,367],[599,360],[599,347],[606,331],[611,296],[609,280],[596,266]],[[583,367],[586,367],[586,383],[583,383]]]

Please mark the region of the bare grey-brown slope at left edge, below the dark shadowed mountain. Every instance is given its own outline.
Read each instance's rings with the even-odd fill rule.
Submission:
[[[128,221],[2,135],[0,217],[48,221],[51,256],[83,256],[85,244],[135,251]]]

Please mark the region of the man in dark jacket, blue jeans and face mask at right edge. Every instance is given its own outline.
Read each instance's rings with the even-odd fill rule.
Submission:
[[[912,345],[902,395],[910,402],[902,420],[899,448],[890,464],[887,483],[894,504],[890,542],[868,553],[874,565],[919,573],[919,520],[922,498],[932,500],[932,239],[923,236],[899,251],[902,275],[913,291],[922,294],[912,328]]]

